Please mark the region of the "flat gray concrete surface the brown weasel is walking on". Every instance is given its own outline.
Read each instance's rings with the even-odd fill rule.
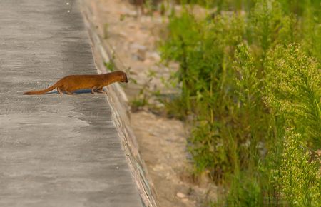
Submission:
[[[142,206],[104,94],[22,95],[96,73],[77,2],[0,1],[0,206]]]

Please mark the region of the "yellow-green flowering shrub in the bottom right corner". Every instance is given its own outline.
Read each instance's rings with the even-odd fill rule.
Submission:
[[[287,130],[280,168],[280,190],[289,206],[320,205],[321,177],[318,170],[317,162],[310,161],[307,144],[300,133]]]

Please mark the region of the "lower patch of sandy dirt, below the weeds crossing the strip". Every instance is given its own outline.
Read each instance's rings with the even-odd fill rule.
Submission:
[[[156,188],[159,206],[205,206],[216,188],[193,183],[183,123],[146,111],[131,115],[140,153]]]

